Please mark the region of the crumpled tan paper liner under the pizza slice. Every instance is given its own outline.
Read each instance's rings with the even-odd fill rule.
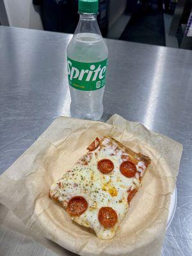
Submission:
[[[95,137],[109,135],[152,164],[116,236],[104,241],[72,222],[48,191]],[[182,145],[113,115],[108,124],[60,117],[0,177],[0,203],[31,232],[80,255],[160,255]]]

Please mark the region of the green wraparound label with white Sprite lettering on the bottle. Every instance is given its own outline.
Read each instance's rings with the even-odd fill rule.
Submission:
[[[99,90],[106,84],[107,62],[84,63],[67,57],[68,83],[77,90]]]

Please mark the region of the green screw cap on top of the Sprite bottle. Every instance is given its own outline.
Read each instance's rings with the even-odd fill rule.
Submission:
[[[98,0],[79,0],[80,13],[97,13],[99,9]]]

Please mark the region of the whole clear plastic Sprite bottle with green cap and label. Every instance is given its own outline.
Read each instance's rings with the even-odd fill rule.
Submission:
[[[108,47],[97,24],[98,0],[79,0],[80,19],[67,47],[71,115],[99,120],[106,83]]]

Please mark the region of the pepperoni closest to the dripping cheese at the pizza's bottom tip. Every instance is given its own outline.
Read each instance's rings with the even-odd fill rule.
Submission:
[[[111,207],[102,207],[99,210],[98,219],[105,228],[113,227],[117,221],[116,211]]]

